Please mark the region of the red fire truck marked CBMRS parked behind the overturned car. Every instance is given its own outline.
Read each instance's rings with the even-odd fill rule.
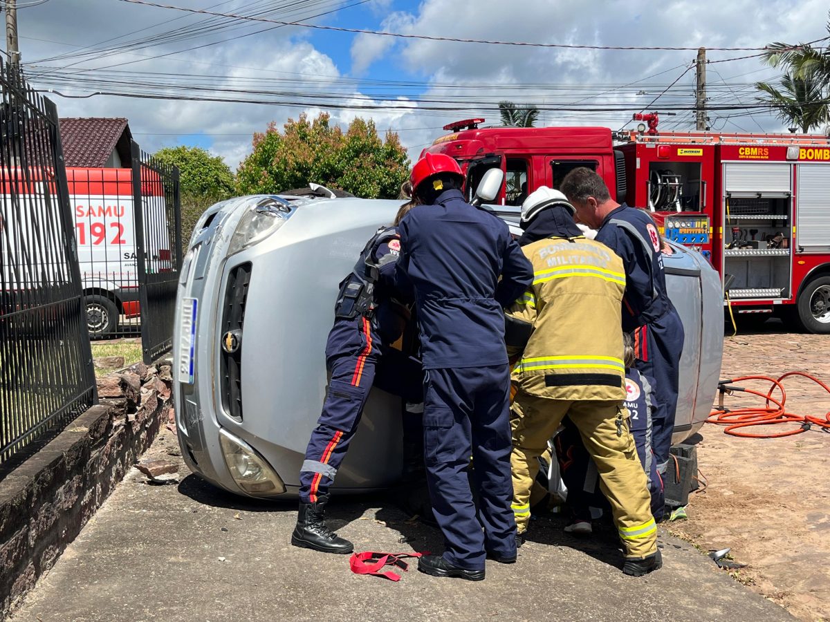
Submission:
[[[648,209],[666,238],[706,256],[730,311],[830,333],[830,140],[660,132],[657,114],[635,119],[647,124],[627,133],[465,119],[424,151],[456,158],[467,188],[501,168],[502,206],[558,188],[573,168],[593,168],[618,202]]]

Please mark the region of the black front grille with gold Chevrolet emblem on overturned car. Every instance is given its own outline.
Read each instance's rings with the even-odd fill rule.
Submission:
[[[251,284],[251,263],[232,268],[227,279],[225,301],[222,305],[222,342],[219,345],[222,378],[222,406],[228,415],[242,420],[242,325],[245,322],[245,303]],[[238,339],[232,350],[234,338]],[[232,351],[228,351],[231,349]]]

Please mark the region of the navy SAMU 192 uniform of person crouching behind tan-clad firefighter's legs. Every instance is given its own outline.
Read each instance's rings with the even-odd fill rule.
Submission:
[[[626,372],[627,397],[625,407],[630,415],[630,426],[637,456],[646,472],[648,492],[652,497],[652,514],[655,520],[663,516],[665,498],[663,480],[657,473],[657,461],[652,453],[652,415],[654,396],[646,378],[636,369]],[[562,421],[564,430],[554,439],[559,473],[568,488],[568,507],[575,518],[590,521],[591,508],[611,512],[611,506],[599,488],[599,474],[588,449],[585,449],[579,429],[567,417]],[[610,514],[608,514],[610,516]]]

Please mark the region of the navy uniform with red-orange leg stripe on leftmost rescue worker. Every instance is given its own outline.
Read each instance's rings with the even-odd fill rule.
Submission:
[[[325,344],[325,363],[330,373],[329,390],[300,469],[300,501],[303,503],[316,503],[328,494],[357,430],[373,384],[383,391],[402,396],[405,401],[422,401],[420,367],[386,345],[398,338],[403,328],[398,304],[393,302],[398,295],[393,277],[400,239],[394,230],[389,233],[393,235],[382,236],[364,250],[364,254],[368,254],[378,266],[374,290],[377,309],[367,314],[356,313],[352,318],[335,318]],[[359,268],[356,267],[355,271]],[[338,315],[344,309],[344,291],[358,280],[353,274],[340,284]],[[381,364],[378,366],[378,363]]]

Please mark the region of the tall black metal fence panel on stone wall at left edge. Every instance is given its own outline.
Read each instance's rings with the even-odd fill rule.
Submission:
[[[55,104],[0,61],[0,464],[95,403]]]

